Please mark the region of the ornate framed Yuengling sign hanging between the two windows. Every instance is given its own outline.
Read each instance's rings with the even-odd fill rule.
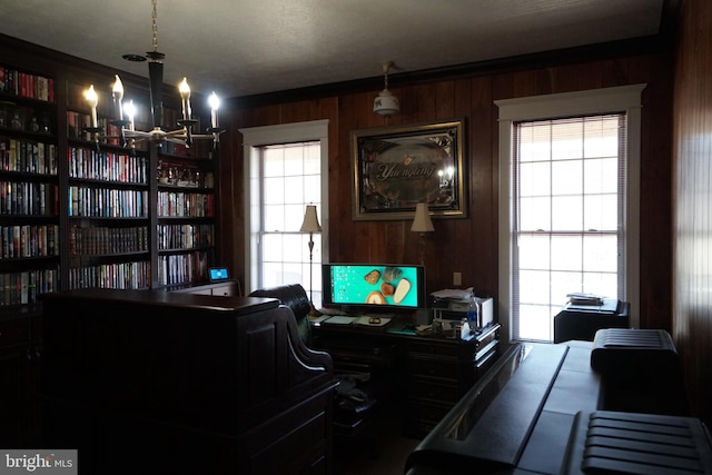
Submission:
[[[354,219],[467,216],[463,120],[352,130]]]

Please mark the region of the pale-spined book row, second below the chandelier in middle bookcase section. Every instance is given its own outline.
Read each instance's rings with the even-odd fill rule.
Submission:
[[[69,187],[70,217],[145,218],[148,216],[147,190]]]

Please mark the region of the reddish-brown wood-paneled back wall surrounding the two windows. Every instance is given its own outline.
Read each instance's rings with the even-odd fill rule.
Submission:
[[[402,112],[389,119],[373,113],[377,90],[305,101],[244,107],[228,111],[222,139],[221,256],[240,276],[245,268],[243,216],[243,127],[329,119],[329,259],[332,261],[417,263],[417,239],[409,220],[352,219],[349,131],[390,123],[465,118],[466,190],[469,216],[435,219],[427,236],[427,288],[453,286],[459,271],[465,287],[497,298],[498,137],[497,99],[633,83],[643,91],[641,176],[641,327],[671,329],[671,110],[672,58],[640,55],[547,66],[541,69],[478,73],[425,83],[390,80]],[[226,206],[226,204],[229,204]],[[563,304],[563,301],[562,301]]]

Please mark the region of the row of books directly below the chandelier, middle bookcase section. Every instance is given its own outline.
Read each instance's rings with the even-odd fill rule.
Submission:
[[[67,149],[69,177],[91,180],[147,184],[147,159],[142,155],[98,151],[96,148]]]

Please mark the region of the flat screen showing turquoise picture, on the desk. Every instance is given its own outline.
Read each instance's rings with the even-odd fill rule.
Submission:
[[[425,267],[403,264],[323,264],[325,307],[397,311],[426,307]]]

